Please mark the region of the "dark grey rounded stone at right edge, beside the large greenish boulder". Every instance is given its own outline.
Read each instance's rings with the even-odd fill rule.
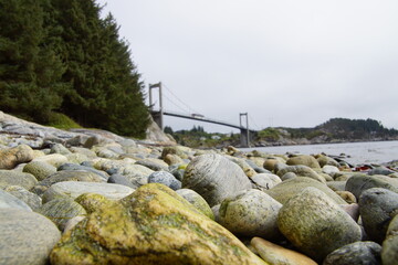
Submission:
[[[371,188],[362,193],[358,204],[366,234],[381,244],[389,222],[398,214],[398,193]]]

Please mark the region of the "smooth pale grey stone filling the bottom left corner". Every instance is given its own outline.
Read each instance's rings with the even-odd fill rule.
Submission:
[[[0,209],[0,263],[49,264],[61,233],[45,216],[15,209]]]

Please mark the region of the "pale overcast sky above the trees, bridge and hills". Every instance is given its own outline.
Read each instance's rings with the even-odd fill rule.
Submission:
[[[398,129],[397,0],[97,2],[121,25],[146,88],[165,84],[166,109],[234,124],[249,113],[254,129],[333,117]]]

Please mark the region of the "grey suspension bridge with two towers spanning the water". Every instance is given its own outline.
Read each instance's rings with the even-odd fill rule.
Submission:
[[[158,93],[158,103],[159,103],[158,105],[159,106],[156,109],[155,109],[155,102],[154,102],[154,94],[153,94],[153,89],[155,89],[155,88],[158,88],[158,92],[159,92]],[[208,117],[205,117],[203,115],[199,114],[198,112],[195,112],[193,109],[191,109],[188,105],[186,105],[182,100],[180,100],[170,89],[168,89],[168,92],[175,98],[177,98],[177,100],[179,100],[180,104],[185,105],[186,108],[182,109],[174,100],[166,97],[171,104],[174,104],[175,106],[182,109],[184,113],[168,110],[168,109],[164,108],[165,93],[164,93],[163,88],[164,88],[164,85],[161,84],[161,82],[159,82],[157,84],[149,84],[149,109],[150,109],[150,114],[151,114],[155,123],[161,129],[164,129],[164,116],[165,115],[172,116],[172,117],[178,117],[178,118],[185,118],[185,119],[199,120],[199,121],[202,121],[202,123],[217,124],[217,125],[239,129],[240,130],[241,147],[250,147],[250,135],[251,135],[251,132],[254,132],[255,130],[249,129],[249,116],[248,116],[248,113],[240,113],[239,114],[239,125],[238,124],[232,124],[232,123],[229,123],[229,121],[222,121],[222,120],[218,120],[218,119],[208,118]],[[188,113],[187,113],[187,110],[188,110]],[[245,125],[242,124],[242,118],[245,118]],[[243,119],[243,121],[244,121],[244,119]]]

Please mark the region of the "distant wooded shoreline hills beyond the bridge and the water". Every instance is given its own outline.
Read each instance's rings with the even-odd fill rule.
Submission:
[[[240,145],[239,134],[209,134],[200,126],[179,131],[166,127],[165,132],[172,135],[178,144],[195,148]],[[251,136],[251,145],[259,147],[375,140],[398,140],[398,130],[387,129],[374,119],[332,118],[314,128],[269,127]]]

